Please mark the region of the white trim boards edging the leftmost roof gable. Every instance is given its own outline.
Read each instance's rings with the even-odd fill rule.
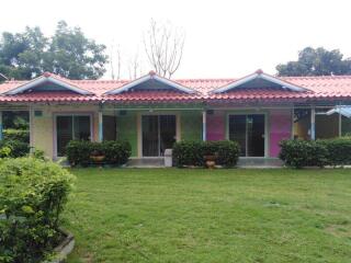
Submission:
[[[33,89],[33,88],[35,88],[35,87],[37,87],[39,84],[44,84],[45,82],[52,82],[54,84],[60,85],[60,87],[63,87],[63,88],[65,88],[67,90],[77,92],[77,93],[82,94],[82,95],[93,94],[93,93],[91,93],[89,91],[86,91],[86,90],[80,89],[80,88],[78,88],[76,85],[69,84],[69,83],[67,83],[65,81],[61,81],[61,80],[56,79],[56,78],[53,78],[50,76],[49,77],[41,76],[41,77],[38,77],[38,78],[36,78],[36,79],[32,80],[32,81],[29,81],[29,82],[18,87],[18,88],[14,88],[14,89],[12,89],[10,91],[4,92],[3,94],[5,94],[5,95],[15,95],[15,94],[24,92],[26,90]]]

